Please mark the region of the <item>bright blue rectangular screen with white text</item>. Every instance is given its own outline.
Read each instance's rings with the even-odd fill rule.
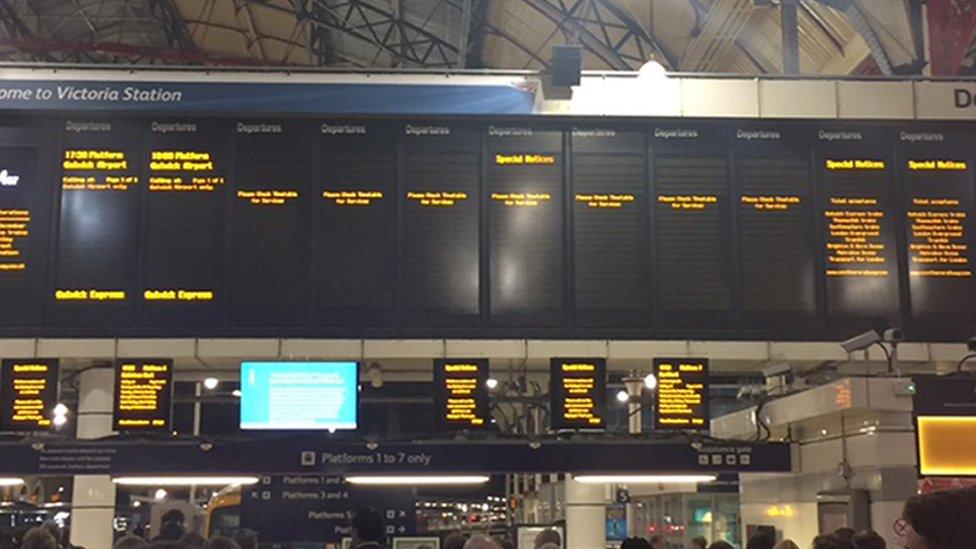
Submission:
[[[241,429],[355,429],[355,362],[242,362]]]

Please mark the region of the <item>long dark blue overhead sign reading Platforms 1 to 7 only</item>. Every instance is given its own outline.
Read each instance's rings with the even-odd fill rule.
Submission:
[[[789,472],[790,447],[728,442],[0,444],[0,474],[448,474]]]

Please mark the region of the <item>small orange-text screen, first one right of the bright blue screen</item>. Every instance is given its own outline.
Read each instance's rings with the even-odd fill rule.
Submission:
[[[481,429],[491,420],[488,359],[434,361],[434,423],[444,429]]]

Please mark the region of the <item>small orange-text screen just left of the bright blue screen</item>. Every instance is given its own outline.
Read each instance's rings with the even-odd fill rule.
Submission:
[[[172,360],[140,358],[115,362],[113,429],[165,432],[170,429],[172,415]]]

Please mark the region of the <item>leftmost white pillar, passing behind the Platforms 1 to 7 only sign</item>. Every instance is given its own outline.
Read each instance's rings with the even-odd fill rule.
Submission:
[[[114,370],[95,368],[78,377],[77,437],[93,439],[111,435]],[[111,547],[115,519],[112,478],[76,475],[71,505],[71,543],[82,547]]]

